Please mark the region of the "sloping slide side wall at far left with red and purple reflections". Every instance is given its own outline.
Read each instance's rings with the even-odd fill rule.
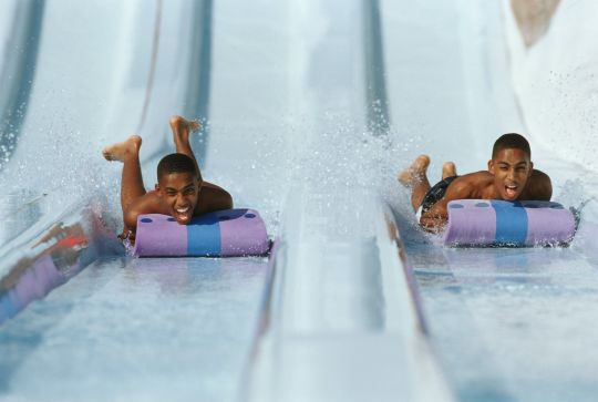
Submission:
[[[124,252],[102,220],[100,204],[99,199],[75,203],[59,214],[44,216],[0,248],[0,326],[100,256]]]

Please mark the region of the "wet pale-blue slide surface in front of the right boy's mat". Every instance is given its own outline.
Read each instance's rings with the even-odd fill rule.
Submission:
[[[582,255],[409,243],[406,251],[460,400],[594,400],[598,272]]]

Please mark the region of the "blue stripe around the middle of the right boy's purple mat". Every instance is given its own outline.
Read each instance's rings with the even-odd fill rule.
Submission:
[[[496,243],[523,245],[527,238],[527,212],[518,202],[491,200],[496,212]]]

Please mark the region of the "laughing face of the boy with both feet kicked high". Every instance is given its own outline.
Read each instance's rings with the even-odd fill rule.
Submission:
[[[193,218],[202,183],[189,172],[162,175],[156,184],[161,197],[171,208],[171,215],[181,225],[187,225]]]

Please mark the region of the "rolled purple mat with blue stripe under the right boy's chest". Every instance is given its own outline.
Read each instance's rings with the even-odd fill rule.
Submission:
[[[575,235],[573,213],[558,203],[457,199],[447,209],[447,246],[554,246]]]

